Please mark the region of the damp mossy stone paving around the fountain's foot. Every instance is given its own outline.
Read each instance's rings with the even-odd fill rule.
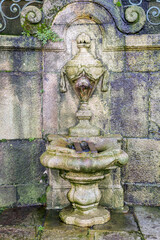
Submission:
[[[108,223],[89,228],[66,225],[58,213],[42,206],[1,208],[0,240],[160,240],[160,207],[112,212]]]

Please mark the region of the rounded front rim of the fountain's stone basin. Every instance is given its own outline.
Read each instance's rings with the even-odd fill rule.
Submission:
[[[50,154],[45,152],[40,157],[41,164],[45,167],[75,172],[98,172],[113,169],[113,166],[122,166],[127,163],[128,155],[121,150],[112,156],[72,157]]]

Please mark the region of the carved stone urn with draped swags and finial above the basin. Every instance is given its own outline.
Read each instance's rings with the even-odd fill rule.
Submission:
[[[78,53],[66,63],[61,70],[60,91],[66,92],[66,80],[70,82],[81,101],[80,109],[76,116],[79,124],[69,129],[71,136],[97,136],[100,130],[92,126],[89,120],[92,116],[88,107],[88,100],[101,80],[101,90],[107,91],[108,71],[101,61],[96,59],[89,51],[90,37],[82,33],[77,37]]]

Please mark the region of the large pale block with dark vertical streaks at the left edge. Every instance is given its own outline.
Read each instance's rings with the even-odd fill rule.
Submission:
[[[41,138],[41,76],[0,73],[0,139]]]

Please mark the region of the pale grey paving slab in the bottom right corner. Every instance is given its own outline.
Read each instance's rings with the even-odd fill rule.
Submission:
[[[135,207],[135,216],[146,240],[160,239],[160,208]]]

